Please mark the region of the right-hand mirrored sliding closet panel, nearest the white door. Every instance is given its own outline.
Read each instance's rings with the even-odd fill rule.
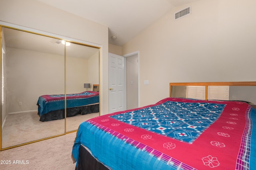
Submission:
[[[93,85],[99,84],[99,49],[67,43],[66,131],[69,132],[77,130],[83,121],[99,116],[99,92],[93,90]]]

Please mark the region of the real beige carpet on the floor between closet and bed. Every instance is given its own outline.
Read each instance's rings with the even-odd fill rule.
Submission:
[[[0,170],[74,170],[76,165],[72,163],[71,153],[75,137],[76,133],[69,133],[2,150],[0,160],[10,160],[11,164],[0,164]],[[24,164],[14,164],[16,160]]]

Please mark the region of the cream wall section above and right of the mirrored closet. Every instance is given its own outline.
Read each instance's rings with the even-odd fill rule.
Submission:
[[[0,0],[0,4],[0,21],[101,47],[100,111],[108,113],[108,102],[103,102],[108,101],[108,27],[34,0]]]

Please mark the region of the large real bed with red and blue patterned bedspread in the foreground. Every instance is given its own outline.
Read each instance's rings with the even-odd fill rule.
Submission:
[[[95,117],[78,128],[73,162],[77,170],[256,169],[253,107],[169,97]]]

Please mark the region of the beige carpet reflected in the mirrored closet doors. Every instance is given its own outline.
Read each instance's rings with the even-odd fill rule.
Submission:
[[[83,121],[98,116],[99,113],[68,117],[66,129],[74,131]],[[2,148],[7,148],[46,137],[65,133],[65,121],[40,122],[37,111],[8,115],[2,129]]]

